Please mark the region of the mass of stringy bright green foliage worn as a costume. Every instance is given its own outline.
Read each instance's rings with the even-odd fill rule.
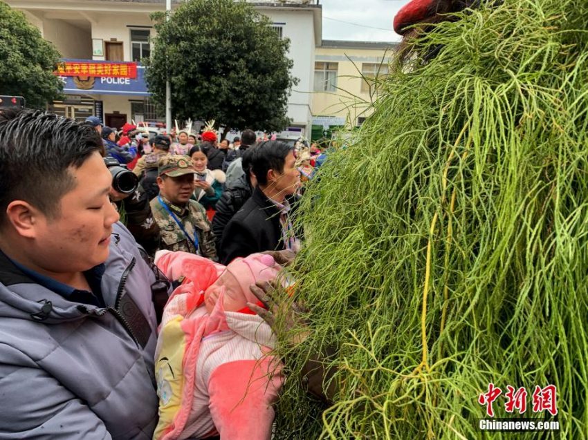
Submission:
[[[276,439],[510,439],[477,430],[489,382],[524,417],[557,385],[561,431],[517,438],[587,438],[588,4],[490,3],[415,41],[307,186],[312,332],[279,354],[338,346],[340,392],[320,417],[286,381]]]

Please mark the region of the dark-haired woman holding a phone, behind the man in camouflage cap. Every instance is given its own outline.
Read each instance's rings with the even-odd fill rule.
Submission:
[[[206,146],[192,146],[188,155],[194,162],[194,194],[192,198],[205,207],[209,220],[214,216],[214,208],[223,194],[223,183],[226,181],[225,173],[221,170],[210,170],[208,165],[208,149]]]

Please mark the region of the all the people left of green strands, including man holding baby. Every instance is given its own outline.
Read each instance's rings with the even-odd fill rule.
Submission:
[[[270,439],[268,282],[319,155],[2,111],[0,439]]]

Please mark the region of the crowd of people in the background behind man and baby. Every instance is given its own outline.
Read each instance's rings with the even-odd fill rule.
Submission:
[[[111,139],[115,132],[98,118],[86,122],[101,133],[104,154],[138,178],[134,194],[113,199],[151,256],[158,250],[185,251],[227,264],[259,251],[300,246],[291,217],[321,154],[316,144],[263,141],[248,129],[232,144],[218,142],[214,131],[144,138],[130,124],[122,127],[117,143]]]

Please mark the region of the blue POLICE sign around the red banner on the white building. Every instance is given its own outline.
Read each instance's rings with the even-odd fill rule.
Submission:
[[[90,61],[100,63],[92,59],[63,59],[63,61]],[[102,61],[114,62],[114,61]],[[111,77],[62,77],[64,93],[68,95],[133,95],[149,96],[145,83],[145,67],[137,64],[137,77],[111,78]]]

